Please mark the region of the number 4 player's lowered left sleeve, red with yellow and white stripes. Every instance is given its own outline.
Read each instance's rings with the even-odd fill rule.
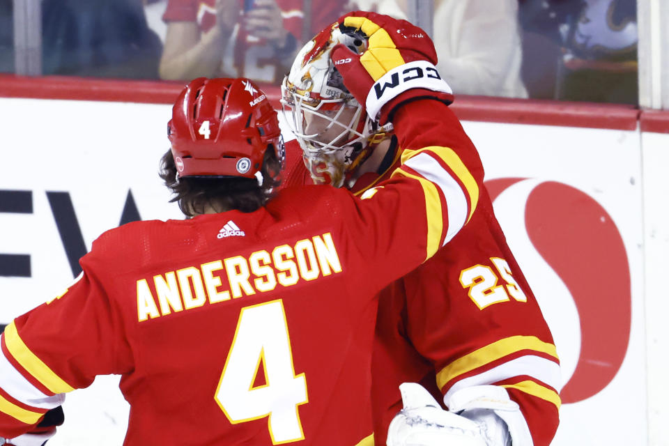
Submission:
[[[120,314],[102,289],[91,254],[81,265],[74,284],[15,318],[0,338],[0,436],[30,431],[67,392],[89,386],[96,375],[132,367]]]

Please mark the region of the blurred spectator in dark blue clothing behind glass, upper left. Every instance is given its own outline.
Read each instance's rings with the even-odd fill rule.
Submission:
[[[162,45],[142,0],[43,0],[44,74],[156,79]]]

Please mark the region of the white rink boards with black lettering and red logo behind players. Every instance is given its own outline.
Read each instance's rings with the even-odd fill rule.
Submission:
[[[553,444],[661,443],[669,119],[602,107],[569,121],[553,104],[521,103],[520,114],[511,102],[505,113],[462,104],[454,109],[562,362]],[[103,231],[180,218],[157,176],[170,114],[164,103],[0,98],[0,256],[11,260],[0,261],[0,323],[58,294]],[[70,394],[49,445],[120,445],[128,407],[117,382]]]

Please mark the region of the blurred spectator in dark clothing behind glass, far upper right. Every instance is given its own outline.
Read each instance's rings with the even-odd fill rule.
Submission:
[[[638,102],[635,0],[521,0],[530,97]]]

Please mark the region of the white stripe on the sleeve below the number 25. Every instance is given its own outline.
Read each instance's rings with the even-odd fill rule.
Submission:
[[[560,376],[560,365],[557,362],[547,360],[545,357],[527,355],[517,357],[514,360],[500,364],[481,374],[468,376],[456,381],[444,395],[444,402],[448,406],[452,394],[464,387],[472,385],[486,385],[498,381],[513,378],[514,376],[531,376],[541,383],[546,383],[560,392],[562,388],[562,377]]]

